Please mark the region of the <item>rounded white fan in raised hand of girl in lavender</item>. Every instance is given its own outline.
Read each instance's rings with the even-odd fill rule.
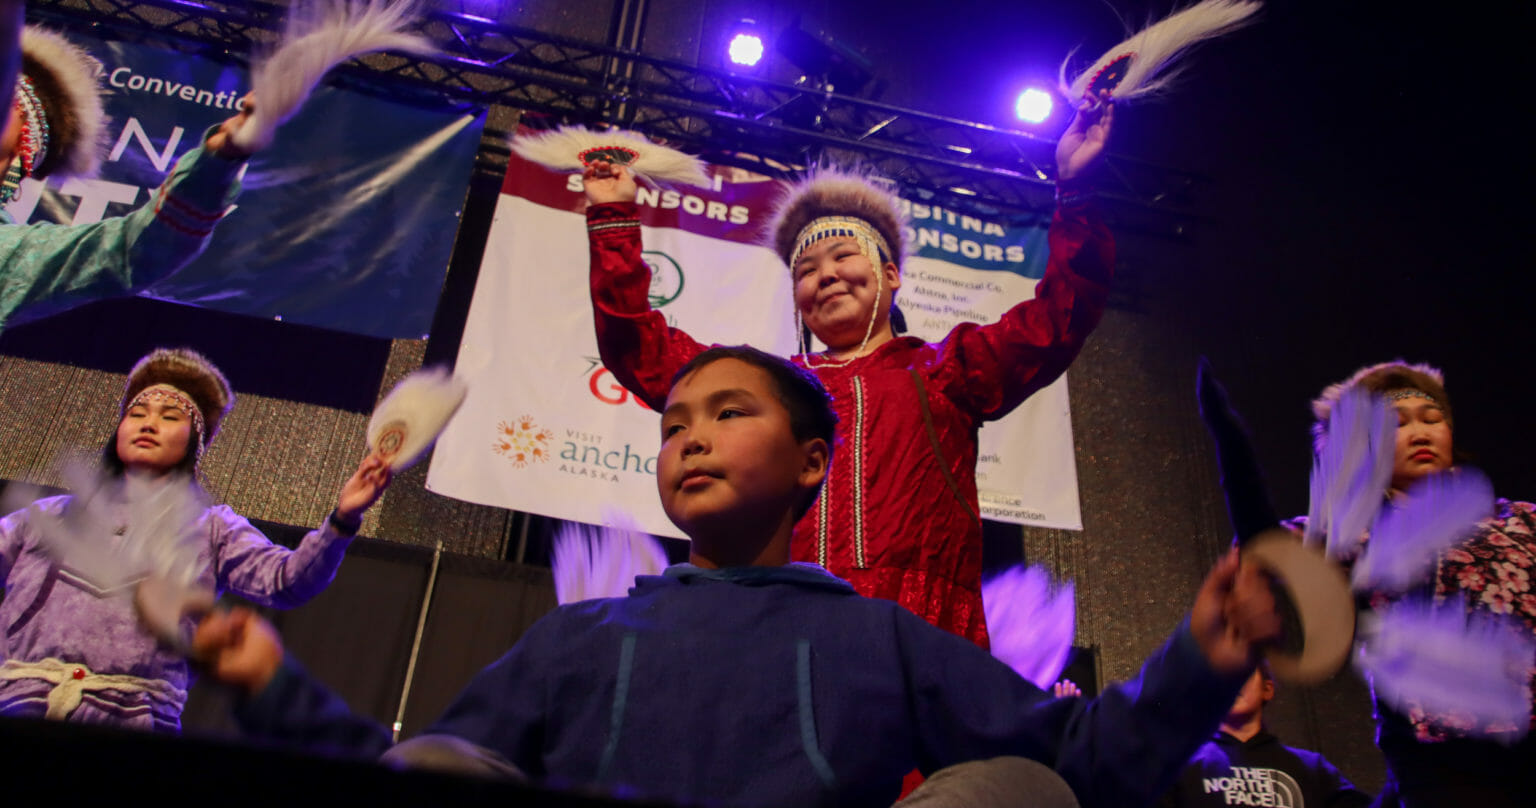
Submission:
[[[459,412],[468,387],[442,367],[427,367],[399,379],[369,419],[369,452],[399,472],[436,442]]]

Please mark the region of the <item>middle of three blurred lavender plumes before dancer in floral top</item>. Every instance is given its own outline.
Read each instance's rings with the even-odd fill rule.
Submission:
[[[1441,472],[1415,482],[1381,510],[1366,553],[1355,562],[1356,591],[1404,591],[1493,515],[1493,484],[1476,469]]]

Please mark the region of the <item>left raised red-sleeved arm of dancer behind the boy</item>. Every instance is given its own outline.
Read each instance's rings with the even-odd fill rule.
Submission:
[[[703,346],[651,309],[651,270],[641,257],[634,178],[622,166],[598,163],[582,180],[598,353],[619,384],[660,412],[673,373]]]

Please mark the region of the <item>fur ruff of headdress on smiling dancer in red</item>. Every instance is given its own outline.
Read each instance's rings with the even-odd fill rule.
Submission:
[[[768,221],[770,246],[788,264],[799,235],[823,217],[851,217],[868,223],[891,247],[885,258],[902,266],[906,258],[906,215],[895,194],[874,177],[848,169],[823,167],[790,186]]]

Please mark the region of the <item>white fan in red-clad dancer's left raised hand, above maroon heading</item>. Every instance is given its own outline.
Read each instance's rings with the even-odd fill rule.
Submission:
[[[624,166],[647,184],[690,184],[710,187],[703,161],[677,149],[651,143],[645,135],[624,129],[594,132],[584,126],[562,126],[553,132],[516,135],[511,151],[550,171],[576,172],[605,160]]]

